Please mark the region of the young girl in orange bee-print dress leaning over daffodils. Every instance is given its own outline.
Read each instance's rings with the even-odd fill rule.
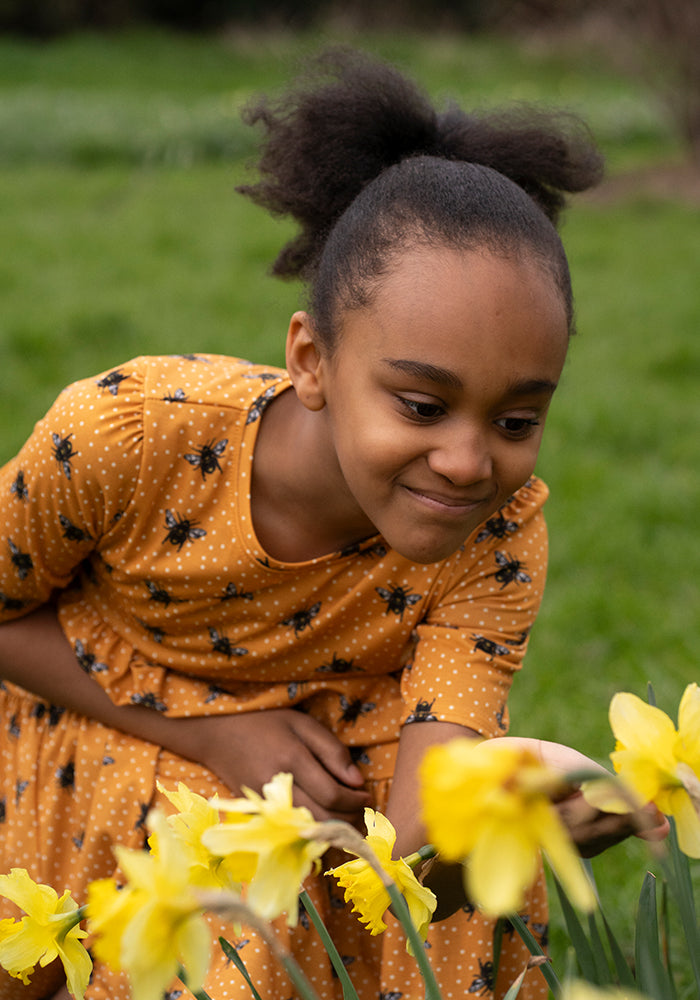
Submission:
[[[572,327],[553,222],[597,154],[545,118],[437,114],[347,53],[250,121],[244,190],[300,226],[275,264],[309,289],[286,371],[125,362],[68,387],[0,474],[0,870],[78,898],[113,844],[143,844],[156,781],[230,796],[291,771],[318,818],[371,804],[415,850],[417,763],[506,732],[542,596],[533,470]],[[310,891],[362,1000],[422,996],[393,922],[370,937],[331,880]],[[541,879],[526,915],[544,941]],[[340,997],[313,930],[280,933]],[[520,973],[512,934],[495,973],[492,935],[468,901],[432,926],[445,998]],[[240,947],[263,996],[292,994],[254,934]],[[249,995],[223,960],[205,988]],[[87,996],[128,988],[97,966]]]

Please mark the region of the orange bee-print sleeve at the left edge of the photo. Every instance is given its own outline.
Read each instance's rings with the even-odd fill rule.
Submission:
[[[139,474],[142,414],[136,369],[76,382],[0,469],[0,621],[67,587],[118,523]]]

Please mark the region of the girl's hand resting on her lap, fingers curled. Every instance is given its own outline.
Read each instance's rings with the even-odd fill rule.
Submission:
[[[240,795],[260,792],[279,771],[294,776],[294,804],[315,819],[342,819],[364,829],[370,796],[348,748],[320,722],[291,708],[177,719],[174,750],[203,764]]]

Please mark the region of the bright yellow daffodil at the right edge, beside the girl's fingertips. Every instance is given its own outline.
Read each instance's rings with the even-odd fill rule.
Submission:
[[[620,692],[610,703],[615,771],[629,790],[621,795],[610,783],[584,787],[587,801],[607,812],[629,812],[653,802],[673,816],[681,850],[700,858],[700,689],[689,684],[678,709],[678,729],[660,708]],[[631,799],[631,802],[630,802]]]

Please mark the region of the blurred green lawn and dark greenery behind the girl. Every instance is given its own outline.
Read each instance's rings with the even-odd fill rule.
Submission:
[[[267,275],[286,223],[235,192],[240,109],[310,53],[374,52],[438,104],[574,111],[608,171],[563,227],[578,334],[512,731],[604,761],[612,694],[648,683],[675,719],[700,673],[699,38],[700,0],[0,0],[0,460],[131,356],[282,362],[303,289]],[[596,861],[623,927],[645,857]]]

